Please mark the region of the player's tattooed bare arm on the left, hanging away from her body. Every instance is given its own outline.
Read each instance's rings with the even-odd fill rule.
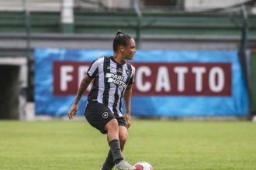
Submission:
[[[91,83],[92,79],[86,74],[83,80],[81,80],[77,96],[75,97],[74,104],[71,106],[70,110],[68,111],[68,118],[73,119],[74,115],[78,111],[78,102],[81,99],[81,96],[83,93],[85,93],[85,90]]]

